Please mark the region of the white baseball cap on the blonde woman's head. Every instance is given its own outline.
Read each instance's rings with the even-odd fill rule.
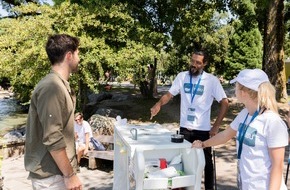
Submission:
[[[260,84],[269,82],[267,74],[261,69],[244,69],[230,83],[239,82],[243,86],[258,91]]]

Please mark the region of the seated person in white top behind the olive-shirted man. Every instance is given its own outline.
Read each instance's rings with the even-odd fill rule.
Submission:
[[[83,114],[78,112],[75,114],[75,139],[78,164],[83,155],[86,155],[90,147],[90,139],[93,137],[92,129],[87,121],[84,121]]]

